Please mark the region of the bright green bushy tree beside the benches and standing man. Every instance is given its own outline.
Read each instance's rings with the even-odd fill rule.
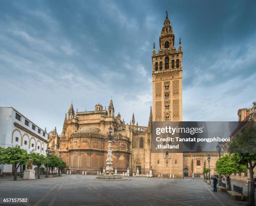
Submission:
[[[244,165],[237,164],[233,158],[225,155],[222,158],[219,158],[216,162],[215,171],[219,174],[225,175],[227,180],[227,190],[231,190],[230,175],[233,173],[246,172],[246,167]]]

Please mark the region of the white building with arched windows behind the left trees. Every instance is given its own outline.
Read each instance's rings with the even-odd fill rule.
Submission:
[[[0,147],[19,145],[31,151],[46,155],[48,134],[12,107],[0,107]],[[34,166],[33,166],[34,167]],[[18,168],[25,170],[26,166]],[[0,165],[0,174],[12,174],[12,165]]]

